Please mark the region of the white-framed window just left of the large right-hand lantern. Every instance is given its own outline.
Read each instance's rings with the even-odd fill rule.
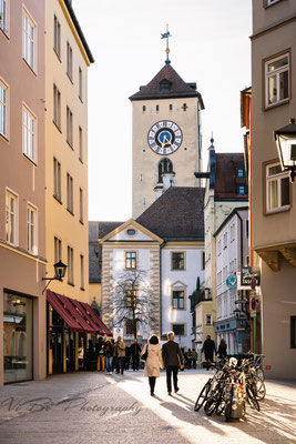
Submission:
[[[290,208],[289,178],[279,163],[266,165],[266,211],[274,213]]]

